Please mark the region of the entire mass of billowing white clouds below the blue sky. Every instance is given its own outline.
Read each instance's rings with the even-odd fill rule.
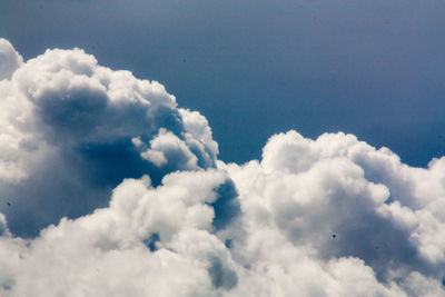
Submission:
[[[0,58],[1,296],[445,296],[445,158],[288,131],[225,164],[156,81]]]

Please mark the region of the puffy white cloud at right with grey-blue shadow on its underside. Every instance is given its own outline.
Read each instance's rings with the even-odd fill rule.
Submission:
[[[289,131],[269,139],[260,162],[224,168],[253,231],[267,221],[320,259],[359,258],[379,280],[390,281],[413,271],[444,275],[444,220],[436,208],[444,196],[434,181],[443,161],[411,168],[352,135],[314,141]],[[426,180],[437,185],[434,192],[421,190]],[[411,189],[408,196],[402,187]]]

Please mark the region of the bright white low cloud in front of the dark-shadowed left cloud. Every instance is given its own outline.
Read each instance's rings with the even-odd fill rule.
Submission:
[[[212,284],[236,281],[224,242],[210,234],[207,202],[227,177],[215,170],[177,172],[152,188],[125,180],[110,207],[62,219],[34,240],[0,240],[0,293],[11,296],[217,296]],[[147,247],[159,236],[157,250]]]

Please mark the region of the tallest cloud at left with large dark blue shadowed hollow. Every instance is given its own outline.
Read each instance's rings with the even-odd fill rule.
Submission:
[[[101,67],[80,49],[22,63],[2,39],[0,52],[0,189],[13,206],[2,200],[0,210],[14,234],[106,206],[123,178],[159,182],[215,166],[207,120],[177,108],[160,83]]]

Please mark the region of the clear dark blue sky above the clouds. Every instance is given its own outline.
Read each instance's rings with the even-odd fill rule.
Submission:
[[[83,48],[204,113],[225,161],[338,130],[425,166],[445,155],[445,2],[1,0],[26,58]]]

